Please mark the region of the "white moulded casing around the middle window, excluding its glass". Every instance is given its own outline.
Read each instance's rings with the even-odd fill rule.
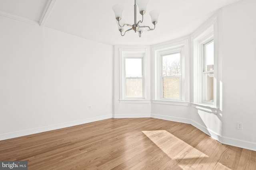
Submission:
[[[180,83],[180,99],[162,98],[162,57],[172,53],[181,54],[181,83]],[[189,106],[190,102],[190,64],[189,64],[189,41],[184,39],[181,41],[172,41],[165,45],[159,44],[152,47],[152,103],[170,104]]]

